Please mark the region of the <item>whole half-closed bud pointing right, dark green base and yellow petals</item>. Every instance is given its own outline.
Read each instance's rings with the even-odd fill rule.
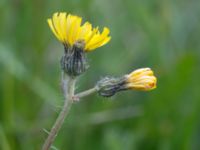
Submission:
[[[104,78],[97,83],[98,93],[111,97],[122,90],[149,91],[156,88],[156,77],[150,68],[141,68],[121,78]]]

